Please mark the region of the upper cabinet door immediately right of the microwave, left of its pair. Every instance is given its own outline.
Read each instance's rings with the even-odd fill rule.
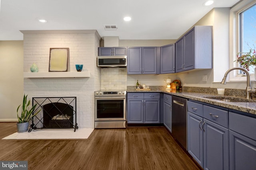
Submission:
[[[127,48],[127,74],[142,74],[142,48]]]

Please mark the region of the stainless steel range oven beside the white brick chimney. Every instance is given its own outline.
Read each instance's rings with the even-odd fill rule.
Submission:
[[[126,91],[94,93],[95,128],[126,128]]]

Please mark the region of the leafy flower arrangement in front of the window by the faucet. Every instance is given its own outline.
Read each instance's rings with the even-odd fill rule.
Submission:
[[[239,55],[241,55],[239,57]],[[256,66],[256,52],[255,48],[250,49],[249,52],[246,53],[238,53],[236,62],[240,63],[243,68],[249,71],[250,66]],[[234,61],[234,62],[235,62]]]

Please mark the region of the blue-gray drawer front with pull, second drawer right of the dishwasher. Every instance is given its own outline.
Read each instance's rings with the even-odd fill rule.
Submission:
[[[228,111],[205,105],[203,108],[204,118],[228,128]]]

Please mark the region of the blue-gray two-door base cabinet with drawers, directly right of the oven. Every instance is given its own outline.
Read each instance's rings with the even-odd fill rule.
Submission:
[[[128,93],[127,123],[160,123],[160,93]]]

